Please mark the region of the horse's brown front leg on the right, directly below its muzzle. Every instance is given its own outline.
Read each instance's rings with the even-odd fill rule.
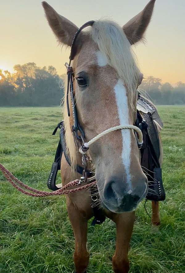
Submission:
[[[134,211],[117,214],[113,218],[116,223],[116,251],[112,259],[115,273],[129,272],[128,251],[134,220]]]

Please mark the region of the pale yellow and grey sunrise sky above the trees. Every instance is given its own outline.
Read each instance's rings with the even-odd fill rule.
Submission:
[[[47,1],[61,15],[78,27],[90,19],[109,16],[125,24],[140,12],[148,0],[115,0],[87,2],[85,0]],[[178,3],[178,4],[177,4]],[[103,8],[102,8],[103,7]],[[185,82],[185,2],[156,0],[154,14],[146,31],[146,45],[138,43],[134,51],[144,77],[150,75],[162,82]],[[2,1],[0,14],[0,69],[13,72],[15,64],[35,62],[38,66],[52,65],[59,74],[65,73],[69,49],[58,46],[44,16],[40,0],[26,2]]]

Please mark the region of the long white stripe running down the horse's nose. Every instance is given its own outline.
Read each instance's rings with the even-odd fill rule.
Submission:
[[[129,109],[126,96],[126,88],[121,79],[118,79],[117,84],[114,87],[114,93],[116,97],[117,110],[120,125],[129,124]],[[125,167],[125,174],[127,183],[130,184],[130,151],[131,151],[131,139],[130,130],[121,130],[122,134],[122,162]]]

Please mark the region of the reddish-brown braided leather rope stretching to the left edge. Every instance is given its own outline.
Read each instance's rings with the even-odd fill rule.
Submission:
[[[74,192],[81,191],[81,190],[86,190],[86,189],[96,185],[96,181],[94,181],[94,182],[91,182],[91,183],[89,183],[87,185],[81,186],[81,187],[76,188],[76,189],[66,190],[70,186],[79,185],[79,180],[76,179],[74,181],[69,182],[68,184],[66,184],[65,186],[60,188],[59,190],[55,190],[53,192],[48,192],[48,191],[36,190],[34,188],[31,188],[31,187],[27,186],[26,184],[21,182],[19,179],[14,177],[14,175],[12,173],[10,173],[1,163],[0,163],[0,170],[2,171],[2,174],[4,175],[6,180],[9,181],[14,188],[19,190],[23,194],[33,196],[33,197],[45,197],[45,196],[51,196],[51,195],[69,194],[69,193],[74,193]],[[26,190],[30,190],[32,192],[23,190],[13,180],[15,182],[17,182],[19,184],[19,186],[22,186]]]

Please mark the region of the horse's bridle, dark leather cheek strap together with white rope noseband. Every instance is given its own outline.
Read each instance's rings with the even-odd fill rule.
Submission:
[[[73,115],[73,126],[72,126],[72,133],[74,135],[74,141],[77,145],[77,147],[79,148],[79,152],[82,154],[82,160],[83,160],[83,165],[84,165],[84,177],[85,180],[87,181],[87,178],[89,177],[90,172],[87,169],[87,157],[85,156],[85,154],[87,153],[89,146],[94,143],[95,141],[97,141],[98,139],[100,139],[102,136],[104,136],[105,134],[109,134],[110,132],[116,131],[116,130],[121,130],[121,129],[133,129],[137,134],[136,135],[136,139],[138,142],[138,148],[141,149],[142,147],[142,131],[140,130],[140,128],[138,126],[134,126],[134,125],[118,125],[118,126],[114,126],[111,127],[105,131],[103,131],[102,133],[98,134],[96,137],[94,137],[93,139],[91,139],[90,141],[86,142],[85,141],[85,134],[84,131],[82,130],[79,122],[78,122],[78,118],[77,118],[77,112],[76,112],[76,100],[75,100],[75,93],[74,93],[74,87],[73,87],[73,68],[71,66],[71,61],[74,59],[75,54],[76,54],[76,50],[75,50],[75,42],[76,39],[78,37],[78,35],[80,34],[80,32],[88,27],[88,26],[92,26],[93,23],[95,21],[88,21],[87,23],[85,23],[83,26],[81,26],[81,28],[79,28],[77,30],[77,32],[75,33],[75,36],[73,38],[72,41],[72,45],[71,45],[71,53],[70,53],[70,57],[69,57],[69,63],[65,63],[65,67],[67,68],[67,75],[68,75],[68,84],[67,84],[67,95],[66,95],[66,104],[67,104],[67,111],[68,111],[68,116],[70,117],[70,109],[69,109],[69,93],[70,93],[70,98],[71,98],[71,104],[72,104],[72,115]],[[78,145],[80,143],[80,145]]]

